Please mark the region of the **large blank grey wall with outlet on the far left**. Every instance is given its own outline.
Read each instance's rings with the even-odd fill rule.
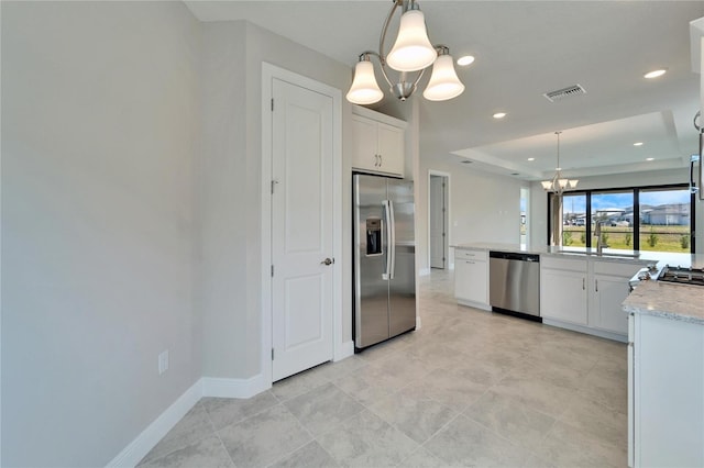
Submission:
[[[1,465],[103,466],[201,374],[200,24],[180,2],[1,8]]]

